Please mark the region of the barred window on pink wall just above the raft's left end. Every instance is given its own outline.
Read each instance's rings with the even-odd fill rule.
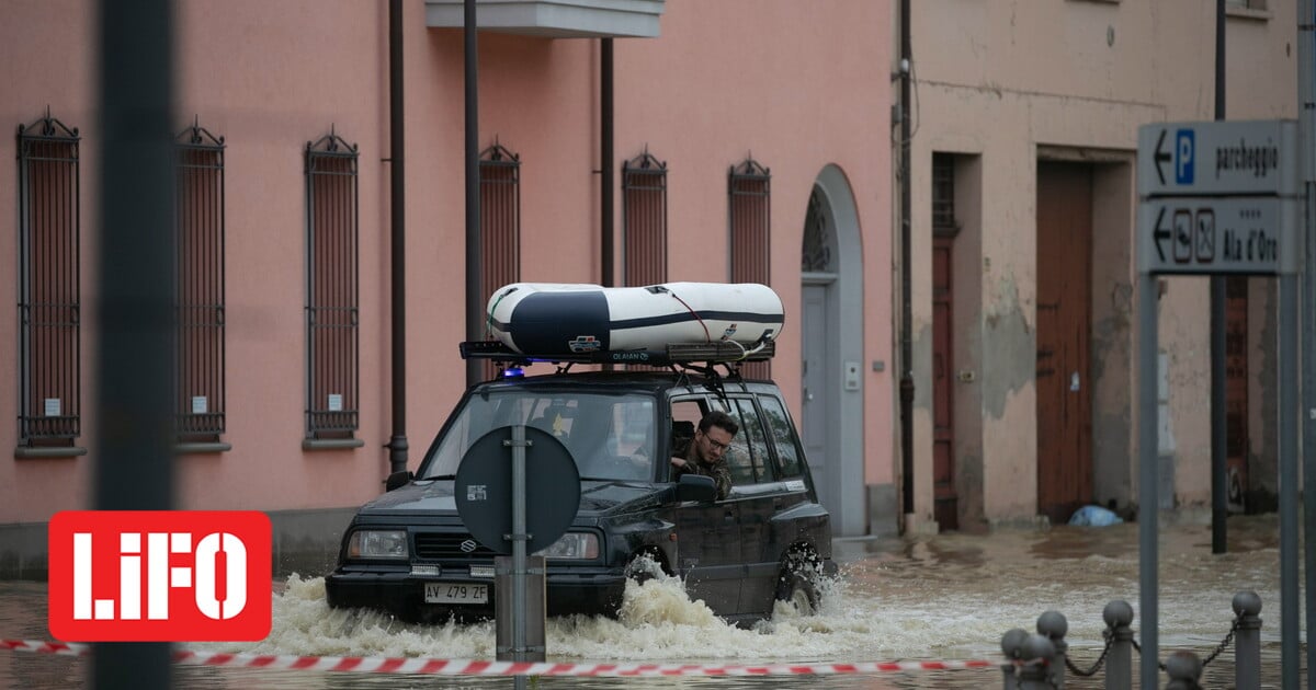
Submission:
[[[667,281],[667,163],[646,149],[621,167],[624,285]]]

